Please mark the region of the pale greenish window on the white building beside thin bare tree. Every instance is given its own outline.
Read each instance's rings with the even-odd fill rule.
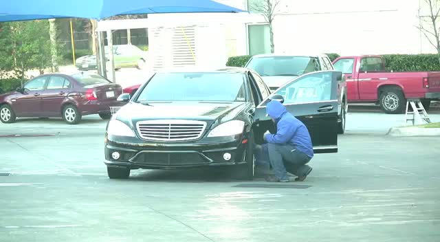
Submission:
[[[248,53],[252,56],[270,53],[269,25],[248,25]]]

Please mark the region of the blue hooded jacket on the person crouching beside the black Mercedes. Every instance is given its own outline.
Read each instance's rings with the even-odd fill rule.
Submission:
[[[292,144],[298,151],[309,157],[314,156],[314,147],[307,127],[289,113],[286,108],[276,100],[267,103],[266,112],[276,122],[276,134],[265,136],[268,143]]]

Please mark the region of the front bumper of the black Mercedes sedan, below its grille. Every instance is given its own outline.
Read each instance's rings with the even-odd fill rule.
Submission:
[[[106,138],[104,163],[107,166],[124,166],[131,169],[176,169],[245,163],[246,144],[242,144],[241,137],[205,138],[204,141],[169,143],[148,143],[137,137],[124,137],[124,140],[116,141],[117,139],[111,135]],[[120,153],[120,157],[113,159],[111,155],[113,152]],[[230,154],[230,159],[224,159],[225,153]]]

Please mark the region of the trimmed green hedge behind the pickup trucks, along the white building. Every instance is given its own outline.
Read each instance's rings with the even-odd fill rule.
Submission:
[[[339,54],[327,54],[331,61],[340,57]],[[383,55],[388,72],[433,72],[440,71],[437,54],[386,54]],[[243,67],[252,56],[232,56],[226,66]]]

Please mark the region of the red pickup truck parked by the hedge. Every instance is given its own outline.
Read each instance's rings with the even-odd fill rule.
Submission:
[[[440,72],[386,72],[382,56],[341,56],[333,61],[347,80],[349,103],[373,102],[386,113],[404,113],[407,98],[429,109],[440,100]]]

